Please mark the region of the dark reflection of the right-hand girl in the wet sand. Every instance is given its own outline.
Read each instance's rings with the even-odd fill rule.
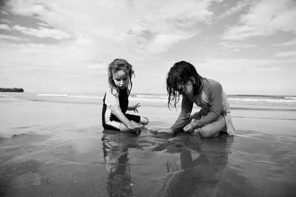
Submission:
[[[165,177],[164,184],[155,196],[195,197],[217,192],[213,188],[216,187],[227,165],[233,137],[219,136],[212,140],[199,140],[199,147],[195,148],[198,149],[200,156],[193,160],[188,148],[180,147],[179,171],[176,171],[177,167],[171,164],[174,168],[168,168],[170,173]]]

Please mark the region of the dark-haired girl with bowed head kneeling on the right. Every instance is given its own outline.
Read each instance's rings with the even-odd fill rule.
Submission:
[[[181,96],[182,107],[175,124],[160,132],[198,131],[202,138],[217,137],[220,131],[234,134],[229,102],[219,82],[201,77],[193,65],[181,61],[170,68],[166,86],[168,107],[176,108]],[[201,109],[191,115],[193,103]]]

